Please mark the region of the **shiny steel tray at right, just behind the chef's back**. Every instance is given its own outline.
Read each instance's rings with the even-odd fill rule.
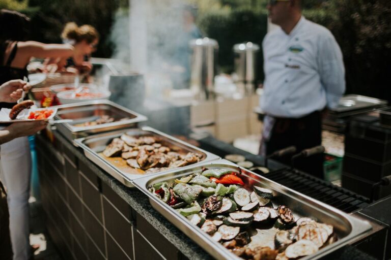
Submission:
[[[385,100],[379,100],[375,98],[370,98],[369,96],[364,95],[345,95],[340,100],[340,103],[337,108],[331,109],[332,112],[347,112],[356,109],[365,109],[371,107],[384,106],[387,104]]]

